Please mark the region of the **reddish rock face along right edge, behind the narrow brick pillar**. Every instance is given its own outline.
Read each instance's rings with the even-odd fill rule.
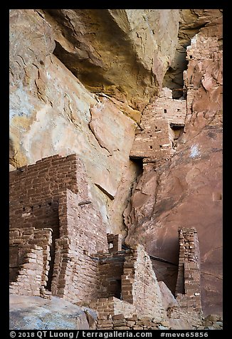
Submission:
[[[177,229],[196,227],[201,251],[204,314],[220,314],[222,296],[222,58],[221,21],[207,24],[187,49],[184,134],[164,165],[144,164],[125,211],[127,244],[176,264]],[[175,289],[174,266],[154,263]],[[170,269],[172,267],[172,269]]]

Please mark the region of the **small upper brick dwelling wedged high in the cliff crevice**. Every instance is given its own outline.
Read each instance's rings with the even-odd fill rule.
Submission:
[[[185,118],[186,100],[172,99],[172,90],[163,88],[157,100],[143,111],[130,157],[168,160],[184,130]]]

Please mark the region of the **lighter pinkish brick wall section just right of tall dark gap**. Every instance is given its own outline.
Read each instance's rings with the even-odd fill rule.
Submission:
[[[73,302],[99,297],[98,263],[90,255],[107,251],[99,212],[92,204],[78,205],[78,201],[78,194],[69,189],[59,201],[60,239],[52,282],[53,295]]]

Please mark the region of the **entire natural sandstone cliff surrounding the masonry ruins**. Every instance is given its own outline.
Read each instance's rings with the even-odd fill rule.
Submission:
[[[106,231],[174,264],[178,227],[196,227],[208,314],[221,313],[222,66],[191,59],[204,38],[220,51],[220,10],[11,10],[10,170],[77,153]],[[142,111],[162,86],[181,88],[184,70],[184,133],[170,160],[141,173],[129,155]],[[175,266],[154,267],[174,292]]]

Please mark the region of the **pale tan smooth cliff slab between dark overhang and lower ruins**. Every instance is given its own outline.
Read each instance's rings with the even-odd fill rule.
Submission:
[[[109,224],[108,231],[123,233],[122,211],[137,175],[129,160],[135,122],[122,113],[128,106],[95,97],[60,63],[52,54],[52,28],[37,11],[12,10],[10,15],[11,170],[75,152],[85,164],[90,198]]]

